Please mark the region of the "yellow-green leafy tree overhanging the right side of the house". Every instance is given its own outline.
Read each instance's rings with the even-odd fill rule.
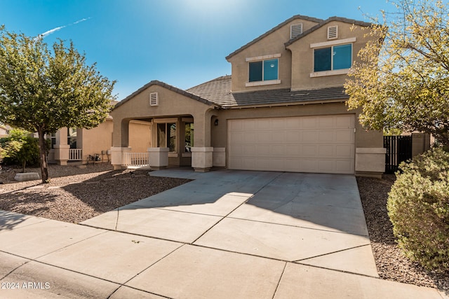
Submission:
[[[391,1],[344,87],[366,129],[433,134],[449,145],[449,10],[436,0]],[[389,20],[393,18],[392,20]]]

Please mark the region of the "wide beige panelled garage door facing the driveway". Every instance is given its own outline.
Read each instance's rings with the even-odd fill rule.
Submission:
[[[228,121],[229,169],[354,173],[354,114]]]

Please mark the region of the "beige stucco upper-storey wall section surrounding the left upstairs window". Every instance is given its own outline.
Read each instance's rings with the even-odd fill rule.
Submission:
[[[276,30],[276,32],[265,36],[260,41],[229,58],[228,61],[232,63],[233,92],[290,88],[292,57],[290,51],[286,50],[284,43],[290,40],[290,25],[301,22],[303,32],[317,24],[308,20],[293,20]],[[274,54],[281,54],[281,57],[279,57],[279,80],[281,80],[281,84],[246,87],[249,65],[246,62],[246,58]]]

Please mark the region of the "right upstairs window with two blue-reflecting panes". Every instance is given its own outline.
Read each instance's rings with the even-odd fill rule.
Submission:
[[[314,72],[349,69],[351,64],[351,43],[314,49]]]

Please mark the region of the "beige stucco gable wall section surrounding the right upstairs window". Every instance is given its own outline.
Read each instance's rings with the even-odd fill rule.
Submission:
[[[335,25],[338,26],[338,39],[328,40],[328,27]],[[328,41],[332,43],[339,43],[341,40],[355,37],[356,41],[352,43],[352,60],[354,62],[358,60],[358,51],[360,51],[368,41],[368,38],[366,37],[367,33],[368,29],[366,29],[366,27],[333,21],[323,27],[320,27],[319,29],[316,29],[315,32],[304,36],[302,39],[288,46],[288,49],[291,50],[292,53],[292,90],[342,86],[347,78],[346,74],[311,78],[310,74],[314,72],[314,48],[310,48],[310,45],[313,43],[323,43]],[[328,46],[319,48],[326,47]]]

